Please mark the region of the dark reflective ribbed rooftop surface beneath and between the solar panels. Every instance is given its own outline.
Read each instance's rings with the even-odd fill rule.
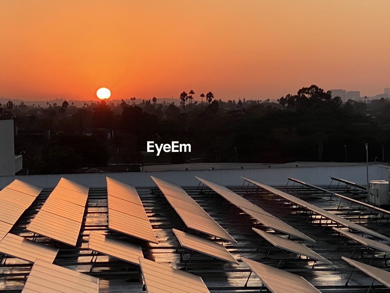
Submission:
[[[284,255],[279,268],[304,277],[322,293],[367,292],[372,283],[372,278],[356,269],[349,280],[349,286],[345,286],[352,267],[346,261],[343,261],[341,257],[351,258],[356,242],[346,241],[344,237],[339,246],[340,237],[335,235],[330,221],[322,219],[321,226],[319,225],[319,216],[312,218],[313,223],[307,221],[311,218],[307,211],[300,207],[291,206],[287,202],[282,202],[279,198],[273,197],[265,191],[252,188],[252,186],[248,189],[246,189],[246,185],[243,188],[241,186],[228,187],[268,213],[277,216],[280,220],[283,220],[285,223],[314,239],[316,243],[301,243],[304,243],[307,247],[332,262],[332,264],[318,262],[312,268],[313,261],[305,257],[299,258],[299,255],[296,254],[288,253]],[[295,189],[291,189],[291,186],[288,189],[284,186],[277,188],[290,194],[293,193],[295,196],[306,200],[310,204],[317,205],[343,218],[360,223],[385,236],[390,236],[388,217],[385,220],[382,218],[381,222],[379,222],[379,218],[376,216],[371,222],[370,211],[362,211],[357,204],[353,204],[349,211],[350,203],[345,201],[340,206],[340,209],[337,210],[339,200],[334,196],[331,198],[329,195],[318,193],[318,191],[315,192],[313,189],[299,189],[298,186]],[[329,189],[328,186],[326,188]],[[333,186],[330,189],[359,200],[363,200],[365,197],[362,194],[352,194],[344,186],[339,189]],[[11,233],[32,239],[33,234],[28,232],[26,227],[37,214],[51,190],[48,188],[43,189],[37,200],[35,200],[32,206],[22,215],[16,225],[14,225]],[[225,248],[238,261],[238,264],[222,264],[222,261],[212,259],[207,255],[194,254],[187,271],[202,277],[207,288],[212,293],[259,292],[261,281],[254,275],[250,277],[248,286],[244,286],[250,268],[241,261],[240,257],[277,267],[283,252],[275,248],[271,250],[269,257],[266,258],[270,246],[266,241],[259,246],[261,237],[252,230],[254,226],[259,229],[264,229],[264,227],[259,224],[255,225],[255,220],[248,217],[248,215],[238,208],[227,204],[227,201],[219,195],[216,195],[216,193],[205,188],[201,190],[198,186],[184,188],[184,190],[238,241],[237,244],[224,243]],[[92,252],[88,249],[90,231],[98,231],[101,234],[108,234],[116,239],[140,245],[146,259],[183,270],[186,261],[190,257],[190,251],[187,250],[181,259],[183,249],[177,251],[179,243],[172,231],[172,228],[183,230],[185,228],[183,222],[180,221],[178,215],[170,207],[165,198],[161,197],[154,189],[137,188],[137,191],[158,238],[158,244],[147,243],[146,241],[108,230],[106,187],[89,189],[87,207],[76,247],[61,244],[40,236],[38,236],[37,241],[60,249],[54,264],[76,272],[83,272],[98,277],[100,293],[145,292],[143,291],[143,283],[140,277],[140,268],[136,265],[99,254],[94,272],[90,273]],[[325,226],[326,224],[328,226]],[[222,243],[219,239],[214,239],[204,234],[197,234],[195,231],[188,230],[187,228],[185,228],[185,232],[190,232],[205,239],[211,239],[216,243]],[[294,240],[299,241],[298,239]],[[386,241],[381,242],[387,245],[390,244]],[[367,250],[362,245],[357,245],[353,259],[368,264],[371,257],[372,252],[370,250]],[[389,271],[385,267],[383,253],[376,253],[371,261],[371,265]],[[25,282],[24,278],[29,274],[31,267],[32,264],[21,261],[20,259],[8,258],[5,264],[3,260],[3,264],[0,266],[0,292],[21,292]],[[266,292],[265,289],[263,291]],[[379,282],[374,282],[371,293],[379,292],[388,293],[389,289]]]

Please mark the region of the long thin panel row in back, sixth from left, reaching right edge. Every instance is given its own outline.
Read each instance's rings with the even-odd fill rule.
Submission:
[[[288,200],[289,202],[293,202],[296,205],[300,205],[301,207],[304,207],[310,211],[313,211],[314,213],[320,214],[320,215],[324,216],[325,218],[328,218],[328,219],[332,220],[333,222],[339,223],[340,225],[343,225],[347,228],[350,228],[350,229],[353,229],[356,231],[360,231],[360,232],[369,234],[371,236],[374,236],[377,238],[382,238],[382,239],[390,241],[390,238],[388,238],[382,234],[379,234],[378,232],[375,232],[371,229],[360,226],[360,225],[353,223],[347,219],[344,219],[340,216],[337,216],[336,214],[329,213],[328,211],[325,211],[324,209],[321,209],[321,208],[317,207],[316,205],[309,204],[308,202],[305,202],[304,200],[301,200],[300,198],[294,197],[293,195],[290,195],[290,194],[285,193],[283,191],[280,191],[276,188],[273,188],[271,186],[256,182],[256,181],[251,180],[251,179],[247,179],[244,177],[241,177],[241,178],[248,181],[248,182],[251,182],[252,184],[255,184],[255,185],[261,187],[262,189],[268,190],[269,192],[271,192],[275,195],[278,195],[279,197],[283,197],[286,200]]]

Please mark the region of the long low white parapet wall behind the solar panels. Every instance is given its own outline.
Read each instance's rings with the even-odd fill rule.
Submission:
[[[386,165],[370,164],[369,180],[387,180],[388,169],[389,166]],[[225,186],[241,186],[243,180],[240,176],[273,186],[285,185],[287,177],[294,177],[295,179],[303,180],[315,185],[326,185],[330,183],[329,176],[339,177],[357,184],[366,185],[366,166],[365,164],[360,164],[352,166],[2,176],[0,177],[0,188],[3,188],[14,179],[19,179],[38,186],[54,187],[61,177],[90,187],[104,187],[106,186],[106,176],[133,184],[136,187],[154,187],[155,184],[150,178],[151,175],[177,183],[181,186],[197,186],[199,181],[195,176],[203,177]],[[337,183],[333,182],[333,184]]]

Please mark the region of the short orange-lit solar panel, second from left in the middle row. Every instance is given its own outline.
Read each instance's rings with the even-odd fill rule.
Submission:
[[[133,264],[139,264],[138,258],[144,257],[140,246],[112,239],[96,231],[89,234],[88,248]]]

